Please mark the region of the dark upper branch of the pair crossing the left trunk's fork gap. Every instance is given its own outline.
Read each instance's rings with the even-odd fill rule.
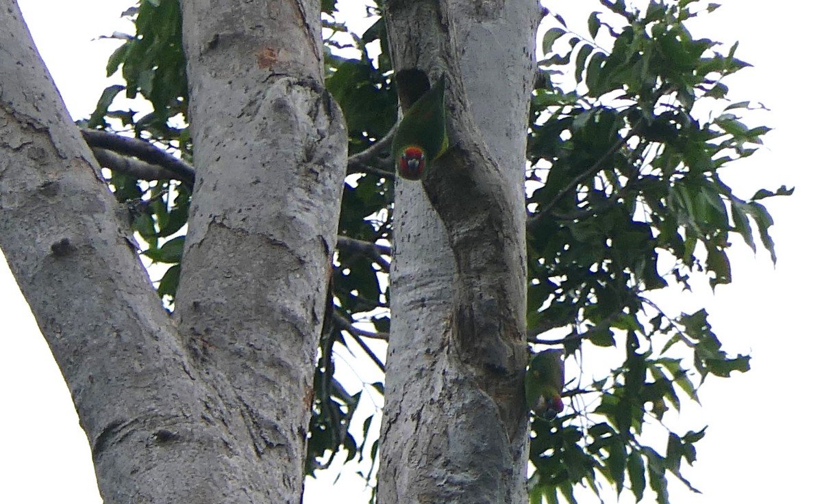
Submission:
[[[89,144],[92,149],[107,149],[116,153],[134,156],[145,163],[155,164],[172,172],[175,175],[173,178],[183,181],[189,186],[194,185],[194,168],[182,159],[175,158],[163,149],[159,149],[154,144],[150,144],[145,140],[110,133],[109,131],[85,128],[81,128],[80,131],[85,143]]]

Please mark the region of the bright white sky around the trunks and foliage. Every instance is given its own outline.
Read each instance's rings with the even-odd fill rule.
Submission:
[[[104,65],[118,44],[92,41],[116,30],[130,30],[119,20],[132,0],[19,0],[40,54],[75,118],[87,117],[107,83]],[[547,5],[572,21],[574,10],[589,2]],[[712,502],[818,502],[811,487],[820,464],[822,441],[813,395],[805,388],[819,380],[817,364],[822,329],[815,321],[822,284],[818,262],[822,187],[815,114],[815,87],[822,7],[792,2],[727,0],[723,7],[692,25],[695,36],[728,43],[740,40],[737,57],[754,64],[727,80],[735,101],[764,103],[749,126],[774,127],[765,149],[725,172],[739,195],[760,187],[796,186],[790,198],[770,199],[776,221],[773,236],[778,265],[764,250],[756,257],[737,241],[731,252],[733,283],[697,294],[672,293],[669,307],[708,309],[714,332],[731,353],[750,353],[753,369],[730,380],[709,378],[700,391],[703,408],[686,405],[681,421],[691,428],[709,424],[696,447],[698,460],[685,474],[703,495],[671,483],[676,504]],[[587,12],[580,12],[581,19]],[[584,30],[584,24],[579,25]],[[16,288],[0,264],[0,502],[99,502],[85,434],[79,428],[67,387]],[[676,313],[676,312],[674,312]],[[813,409],[811,409],[813,408]],[[675,417],[675,413],[669,413]],[[676,422],[675,418],[672,418]],[[336,472],[310,483],[306,504],[349,496],[362,488],[356,476],[328,488]],[[646,492],[646,500],[653,493]],[[631,502],[630,493],[623,496]],[[358,502],[367,502],[366,497]],[[609,499],[609,502],[616,502]]]

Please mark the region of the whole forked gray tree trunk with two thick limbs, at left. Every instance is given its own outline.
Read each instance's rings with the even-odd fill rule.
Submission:
[[[296,503],[347,144],[322,87],[320,2],[182,7],[197,185],[177,320],[13,0],[0,0],[0,247],[105,502]]]

